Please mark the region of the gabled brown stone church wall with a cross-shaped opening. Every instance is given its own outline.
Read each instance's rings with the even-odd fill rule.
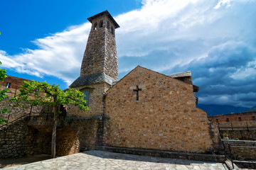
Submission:
[[[107,146],[213,151],[206,112],[196,108],[193,85],[149,69],[135,68],[107,91],[105,114]]]

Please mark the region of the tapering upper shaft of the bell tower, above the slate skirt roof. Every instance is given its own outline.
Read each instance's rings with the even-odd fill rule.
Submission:
[[[105,73],[118,79],[117,45],[114,30],[119,25],[108,11],[87,18],[92,23],[82,59],[80,76]]]

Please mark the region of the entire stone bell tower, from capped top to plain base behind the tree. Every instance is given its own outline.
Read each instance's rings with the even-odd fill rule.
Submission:
[[[118,80],[117,45],[114,30],[119,25],[108,11],[87,18],[92,23],[82,59],[80,77],[70,85],[85,94],[89,111],[75,111],[77,116],[104,113],[104,93]]]

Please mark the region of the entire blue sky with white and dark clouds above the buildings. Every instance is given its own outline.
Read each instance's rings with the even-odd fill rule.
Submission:
[[[256,1],[1,1],[0,61],[8,74],[65,89],[80,74],[90,23],[108,10],[119,79],[137,65],[192,72],[199,103],[256,106]]]

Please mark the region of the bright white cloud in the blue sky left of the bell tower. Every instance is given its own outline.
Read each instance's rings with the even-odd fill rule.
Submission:
[[[63,79],[68,85],[78,77],[82,55],[85,50],[90,23],[73,26],[46,38],[33,42],[38,49],[24,49],[19,55],[10,56],[0,52],[3,66],[16,72],[43,77],[50,75]]]

